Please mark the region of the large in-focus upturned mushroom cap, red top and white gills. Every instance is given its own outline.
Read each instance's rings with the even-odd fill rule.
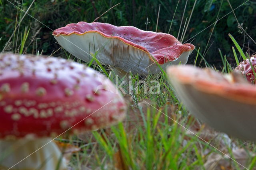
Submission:
[[[174,36],[139,30],[132,26],[113,26],[100,22],[68,24],[53,32],[54,38],[72,55],[89,62],[97,59],[125,72],[147,75],[170,64],[186,64],[194,45],[182,44]]]

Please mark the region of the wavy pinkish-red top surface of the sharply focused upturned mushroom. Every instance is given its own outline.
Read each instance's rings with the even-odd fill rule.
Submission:
[[[133,26],[114,26],[100,22],[78,22],[54,30],[54,36],[69,36],[98,33],[105,38],[117,38],[137,49],[145,51],[152,61],[162,65],[176,60],[183,52],[193,51],[191,43],[180,43],[174,36],[165,33],[143,31]],[[153,56],[153,58],[151,57]]]

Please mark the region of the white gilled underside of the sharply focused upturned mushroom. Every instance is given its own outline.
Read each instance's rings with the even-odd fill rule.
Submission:
[[[154,61],[152,56],[152,59],[150,59],[146,51],[128,45],[117,38],[105,38],[97,32],[80,36],[76,34],[69,36],[60,35],[54,36],[54,38],[69,53],[86,62],[90,62],[93,59],[89,54],[98,51],[96,58],[102,64],[118,67],[126,73],[131,71],[132,74],[148,75],[149,73],[155,74],[161,71],[156,61]],[[161,65],[162,69],[165,70],[168,65],[172,64],[186,64],[191,52],[185,51],[178,59],[164,63]]]

